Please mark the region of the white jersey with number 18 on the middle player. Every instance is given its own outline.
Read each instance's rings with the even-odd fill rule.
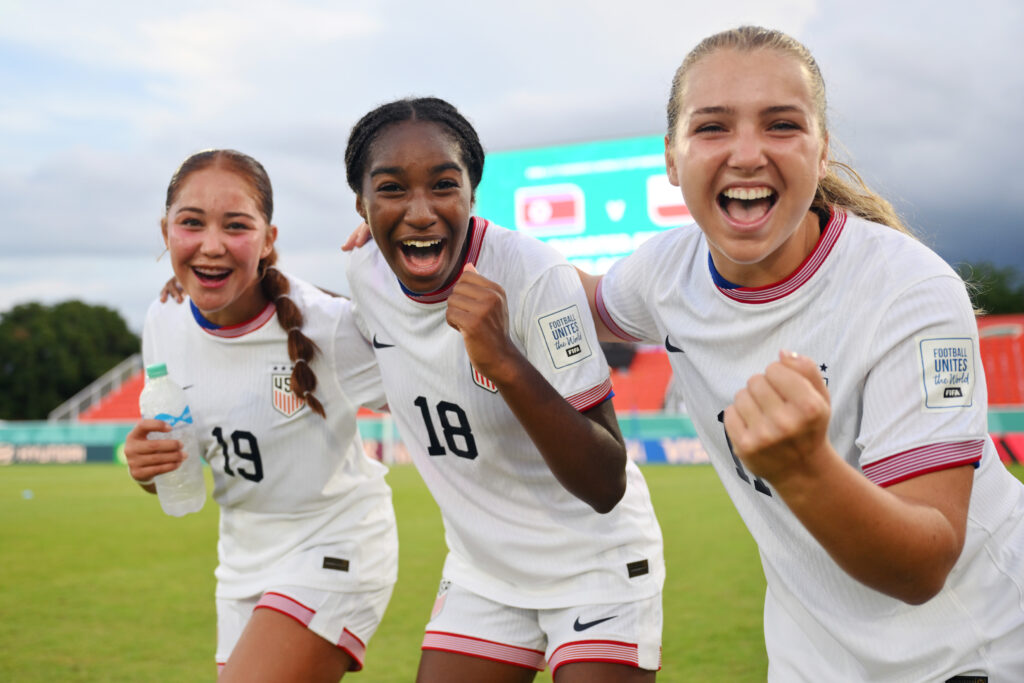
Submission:
[[[575,270],[546,245],[474,218],[466,261],[505,290],[512,341],[578,410],[604,400],[608,367]],[[662,533],[639,469],[608,514],[555,479],[445,322],[449,290],[403,290],[376,245],[348,280],[388,407],[444,521],[445,578],[519,607],[649,597],[665,577]]]

